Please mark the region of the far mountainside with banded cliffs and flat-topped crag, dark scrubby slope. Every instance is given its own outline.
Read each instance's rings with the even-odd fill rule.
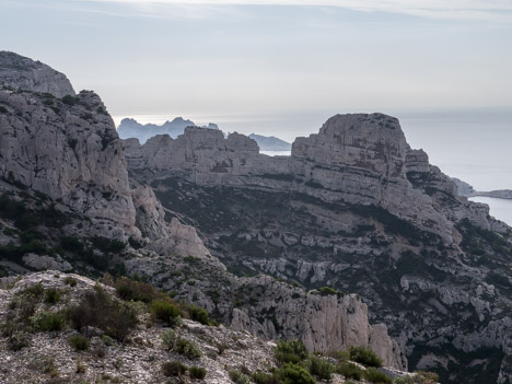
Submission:
[[[358,292],[412,368],[511,382],[511,230],[458,197],[397,119],[335,116],[290,158],[194,128],[125,148],[133,177],[229,270]]]

